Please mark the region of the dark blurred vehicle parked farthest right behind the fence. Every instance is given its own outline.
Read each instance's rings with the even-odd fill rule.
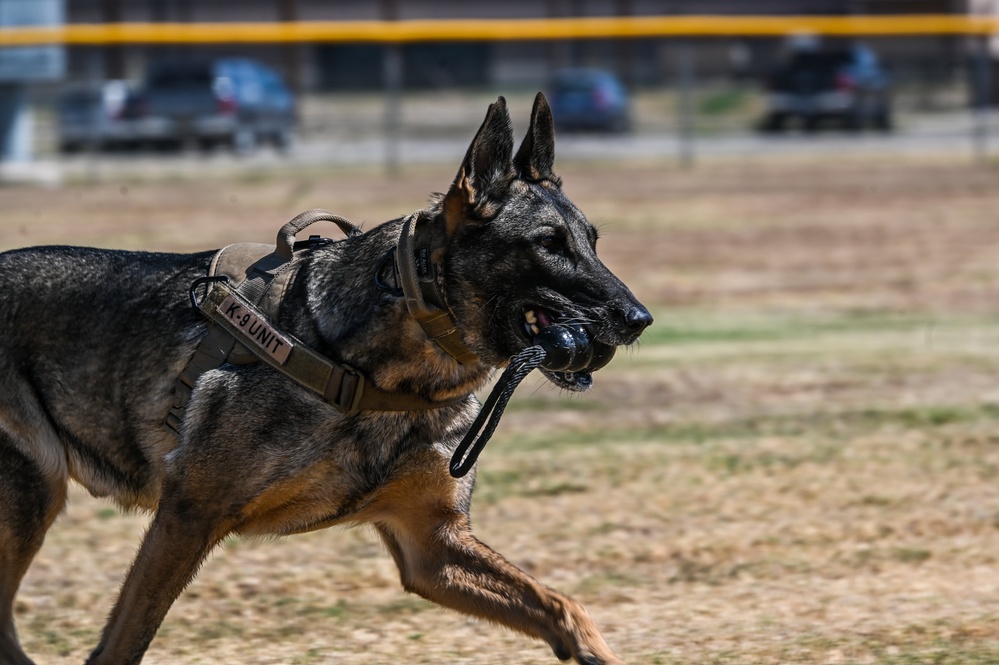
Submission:
[[[888,74],[874,51],[863,45],[794,52],[767,88],[763,129],[768,131],[782,131],[791,120],[806,130],[826,121],[849,129],[892,127]]]

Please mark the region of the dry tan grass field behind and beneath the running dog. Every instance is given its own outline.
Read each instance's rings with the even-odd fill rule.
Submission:
[[[999,172],[940,158],[568,164],[655,325],[582,396],[521,387],[479,537],[575,595],[629,663],[999,662]],[[449,169],[0,189],[0,248],[370,228]],[[144,515],[77,488],[22,586],[25,648],[78,663]],[[364,529],[229,540],[147,663],[545,663],[404,594]]]

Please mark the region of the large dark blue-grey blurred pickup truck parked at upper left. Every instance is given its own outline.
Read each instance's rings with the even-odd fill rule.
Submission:
[[[295,128],[295,99],[284,81],[246,58],[154,66],[137,107],[137,133],[159,145],[193,140],[249,153],[270,141],[285,150]]]

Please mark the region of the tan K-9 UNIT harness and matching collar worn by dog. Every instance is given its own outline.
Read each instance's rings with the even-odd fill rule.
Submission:
[[[298,259],[302,253],[333,242],[318,236],[311,236],[305,242],[295,242],[298,232],[318,221],[335,223],[348,237],[361,233],[354,224],[339,215],[322,209],[309,210],[281,228],[274,247],[240,243],[219,250],[212,257],[208,274],[192,283],[191,304],[208,319],[208,333],[175,384],[174,406],[165,422],[169,431],[179,436],[184,411],[198,378],[226,363],[248,365],[267,362],[347,415],[362,410],[437,409],[467,397],[463,395],[432,401],[412,393],[381,390],[349,365],[326,358],[272,323],[298,271]],[[407,220],[404,240],[400,240],[401,251],[398,252],[401,256],[410,257],[410,261],[414,226],[412,218]],[[412,270],[412,266],[404,264],[401,270],[397,269],[397,280],[407,293],[411,314],[428,336],[441,343],[442,348],[460,356],[462,362],[474,360],[474,354],[464,347],[450,312],[429,308],[419,287],[415,286],[417,278],[407,277],[407,270]],[[198,290],[202,287],[207,293],[199,299]],[[414,288],[417,289],[416,295],[410,303],[408,294]]]

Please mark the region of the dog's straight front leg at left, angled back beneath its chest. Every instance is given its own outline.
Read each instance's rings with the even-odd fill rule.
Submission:
[[[164,493],[88,665],[141,661],[174,600],[228,532],[178,494]]]

